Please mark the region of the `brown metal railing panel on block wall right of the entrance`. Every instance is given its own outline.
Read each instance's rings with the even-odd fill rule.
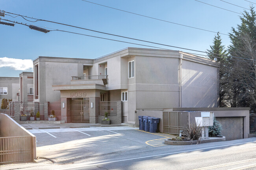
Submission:
[[[108,115],[116,116],[117,115],[117,101],[100,101],[99,114],[105,115],[105,112],[107,112]]]

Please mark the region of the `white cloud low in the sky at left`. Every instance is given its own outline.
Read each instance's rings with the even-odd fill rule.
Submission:
[[[31,71],[33,69],[33,61],[3,57],[0,58],[0,68],[1,67],[10,67],[13,70]]]

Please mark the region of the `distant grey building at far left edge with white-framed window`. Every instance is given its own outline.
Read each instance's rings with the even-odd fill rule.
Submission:
[[[0,77],[0,105],[4,98],[19,100],[19,83],[18,77]]]

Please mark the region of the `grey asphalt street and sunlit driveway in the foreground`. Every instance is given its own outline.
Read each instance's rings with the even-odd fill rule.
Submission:
[[[100,131],[82,131],[91,135],[95,134],[94,137],[85,137],[87,140],[95,140],[95,145],[89,145],[88,148],[86,148],[86,139],[72,140],[68,139],[65,134],[61,134],[64,132],[52,132],[50,134],[56,136],[56,138],[52,137],[55,144],[43,145],[42,143],[39,148],[65,146],[65,144],[71,146],[70,142],[75,142],[75,145],[80,147],[80,151],[74,149],[72,154],[67,156],[65,154],[66,151],[68,152],[67,148],[59,152],[53,150],[53,152],[45,152],[45,155],[51,153],[50,160],[54,163],[39,161],[39,163],[1,166],[0,169],[256,169],[256,138],[199,145],[159,145],[155,147],[146,144],[145,141],[163,138],[163,136],[147,134],[138,130]],[[100,133],[108,132],[109,134],[100,135]],[[48,135],[48,139],[50,139],[47,133],[35,135],[37,140],[47,140],[44,135]],[[80,137],[80,135],[78,136]],[[98,143],[97,140],[99,140]],[[120,149],[121,145],[123,147]],[[91,150],[94,153],[86,154],[85,150]]]

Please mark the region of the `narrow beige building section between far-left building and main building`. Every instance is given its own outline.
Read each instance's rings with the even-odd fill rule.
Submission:
[[[20,101],[34,101],[33,72],[20,73]]]

